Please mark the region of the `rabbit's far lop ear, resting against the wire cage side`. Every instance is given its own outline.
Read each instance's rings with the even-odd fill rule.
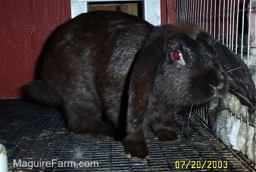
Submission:
[[[220,41],[214,41],[213,48],[220,68],[230,76],[230,92],[235,94],[243,105],[248,106],[249,113],[254,113],[256,91],[246,64]]]

